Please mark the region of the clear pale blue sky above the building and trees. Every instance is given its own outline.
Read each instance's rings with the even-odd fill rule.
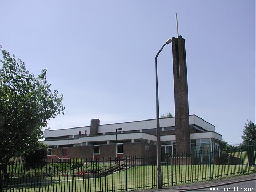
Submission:
[[[50,130],[156,118],[155,56],[185,38],[189,114],[231,144],[255,122],[255,1],[3,1],[0,45],[64,95]],[[172,46],[158,57],[160,114],[174,113]]]

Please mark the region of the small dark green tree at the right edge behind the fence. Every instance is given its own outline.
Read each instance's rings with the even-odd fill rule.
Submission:
[[[244,126],[244,132],[241,135],[243,144],[256,143],[256,125],[252,121],[248,121]]]

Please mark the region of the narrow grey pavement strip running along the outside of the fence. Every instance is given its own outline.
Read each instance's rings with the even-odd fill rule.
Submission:
[[[225,186],[230,185],[233,183],[241,183],[245,181],[253,181],[255,180],[256,186],[256,174],[248,174],[248,175],[241,175],[238,177],[231,177],[219,180],[212,180],[212,181],[205,181],[205,182],[197,182],[191,183],[188,185],[179,185],[179,186],[172,186],[172,187],[163,187],[162,189],[147,189],[147,190],[140,190],[139,192],[182,192],[182,191],[194,191],[198,189],[205,189],[214,186]],[[209,190],[210,191],[210,190]]]

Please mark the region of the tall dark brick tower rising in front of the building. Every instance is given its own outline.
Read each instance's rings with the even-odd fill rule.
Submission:
[[[185,40],[172,38],[176,152],[190,153],[188,82]]]

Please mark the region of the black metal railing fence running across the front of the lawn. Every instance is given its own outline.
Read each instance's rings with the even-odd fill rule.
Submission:
[[[3,191],[129,191],[157,187],[156,157],[54,159],[1,164]],[[162,159],[162,185],[219,179],[256,172],[256,146],[168,155]],[[3,169],[4,170],[4,169]],[[7,173],[7,174],[6,174]],[[7,178],[8,176],[8,178]]]

